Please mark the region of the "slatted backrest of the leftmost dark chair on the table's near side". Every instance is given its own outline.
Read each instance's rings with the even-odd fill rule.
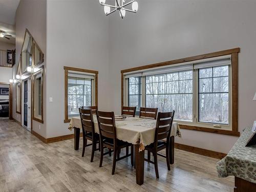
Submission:
[[[92,110],[79,108],[79,113],[81,118],[82,131],[92,132],[94,135],[95,130]]]

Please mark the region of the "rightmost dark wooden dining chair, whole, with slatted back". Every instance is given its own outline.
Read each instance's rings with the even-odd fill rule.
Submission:
[[[157,178],[159,178],[157,155],[166,158],[167,167],[168,167],[168,170],[170,170],[169,147],[170,147],[170,132],[172,130],[173,119],[174,119],[174,111],[167,112],[167,113],[159,112],[157,116],[154,142],[151,143],[150,145],[145,146],[145,150],[147,150],[147,159],[144,159],[144,160],[149,163],[153,163],[155,165],[155,172],[156,172]],[[166,139],[166,141],[164,141],[163,139]],[[166,149],[166,155],[158,153],[164,148]],[[151,153],[153,153],[154,162],[150,160]]]

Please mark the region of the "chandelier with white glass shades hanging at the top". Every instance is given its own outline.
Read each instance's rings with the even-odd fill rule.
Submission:
[[[126,11],[136,13],[139,7],[138,2],[136,2],[136,0],[132,0],[129,3],[125,3],[125,0],[115,0],[115,5],[108,5],[108,4],[105,4],[105,2],[106,0],[99,0],[100,5],[104,6],[105,14],[110,15],[111,13],[119,11],[121,18],[124,18]],[[132,4],[132,10],[124,8],[130,4]]]

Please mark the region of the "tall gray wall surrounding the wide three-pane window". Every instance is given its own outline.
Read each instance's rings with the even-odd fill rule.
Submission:
[[[112,110],[120,113],[120,70],[240,47],[239,131],[256,119],[256,1],[139,1],[138,13],[110,16]],[[181,130],[176,142],[227,153],[237,137]]]

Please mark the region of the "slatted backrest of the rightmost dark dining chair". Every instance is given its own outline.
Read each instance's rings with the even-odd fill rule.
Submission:
[[[174,119],[174,111],[166,113],[158,113],[157,124],[155,131],[155,142],[160,139],[165,139],[170,137],[170,131],[172,130]]]

